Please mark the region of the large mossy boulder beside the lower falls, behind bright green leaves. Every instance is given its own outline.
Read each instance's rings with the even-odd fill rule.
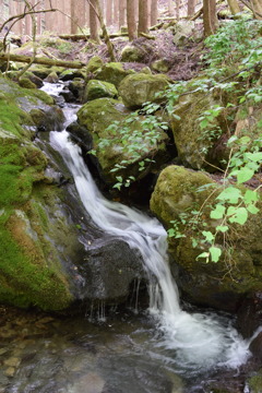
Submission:
[[[224,251],[230,248],[229,254],[224,252],[217,263],[196,260],[206,246],[193,247],[192,239],[200,240],[202,230],[213,231],[217,225],[217,221],[209,218],[216,192],[206,184],[216,186],[204,172],[169,166],[157,180],[151,209],[167,229],[172,228],[175,222],[184,236],[168,238],[174,272],[183,294],[195,303],[233,311],[243,296],[262,289],[262,212],[250,215],[245,226],[235,224],[226,240],[223,236],[216,238]],[[219,190],[219,184],[217,187]],[[192,211],[200,212],[198,225]]]

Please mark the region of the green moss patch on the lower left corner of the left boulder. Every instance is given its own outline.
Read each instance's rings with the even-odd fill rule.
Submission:
[[[59,310],[69,306],[71,295],[55,271],[32,263],[0,224],[0,298],[17,307],[38,306]]]

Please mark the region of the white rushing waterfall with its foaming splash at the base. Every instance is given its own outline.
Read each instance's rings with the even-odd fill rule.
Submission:
[[[68,116],[74,120],[72,110]],[[167,235],[160,223],[136,210],[107,201],[85,166],[80,147],[70,141],[67,131],[51,132],[50,141],[72,172],[82,203],[93,222],[140,250],[148,277],[154,277],[150,287],[150,311],[162,332],[158,345],[174,353],[177,361],[188,368],[196,365],[199,368],[215,365],[235,368],[243,364],[249,356],[249,343],[239,337],[227,319],[181,310],[168,266]]]

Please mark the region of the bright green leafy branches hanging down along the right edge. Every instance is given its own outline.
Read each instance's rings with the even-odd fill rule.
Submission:
[[[233,111],[247,103],[248,106],[258,106],[262,102],[262,86],[259,82],[262,63],[262,37],[259,34],[261,24],[255,21],[236,21],[227,23],[205,40],[210,51],[204,56],[206,76],[193,82],[178,83],[168,88],[167,110],[172,111],[183,94],[202,92],[211,94],[215,90],[237,93],[237,100],[227,102],[226,106],[214,105],[199,117],[201,138],[212,141],[222,134],[222,129],[215,126],[216,117],[224,115],[227,120]],[[230,73],[231,75],[225,78]],[[223,79],[222,79],[223,78]],[[236,80],[236,78],[238,80]],[[229,80],[233,81],[229,81]],[[240,85],[240,86],[239,86]],[[222,96],[222,94],[221,94]],[[198,192],[210,189],[200,210],[186,212],[179,219],[170,222],[169,237],[176,239],[192,234],[192,246],[203,250],[198,259],[206,262],[218,262],[222,254],[230,259],[231,247],[227,241],[234,226],[245,225],[250,214],[258,214],[257,206],[260,200],[259,189],[242,188],[241,184],[253,179],[261,168],[262,162],[262,124],[258,122],[259,136],[252,141],[249,135],[233,135],[228,140],[230,148],[229,159],[226,163],[222,184],[210,183],[200,188]],[[230,130],[228,130],[230,131]],[[245,132],[243,132],[245,133]],[[211,200],[214,200],[211,204]],[[209,218],[203,219],[203,210],[209,209]],[[195,231],[200,236],[195,236]]]

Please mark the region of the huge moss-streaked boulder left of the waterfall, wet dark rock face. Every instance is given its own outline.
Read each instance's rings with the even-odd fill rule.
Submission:
[[[78,300],[122,302],[144,275],[139,252],[94,226],[59,154],[32,142],[28,111],[50,106],[0,85],[0,303],[58,311]]]

